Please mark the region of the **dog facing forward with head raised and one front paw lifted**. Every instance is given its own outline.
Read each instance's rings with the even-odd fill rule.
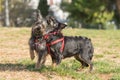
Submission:
[[[46,41],[42,39],[42,31],[44,31],[46,25],[39,10],[36,14],[35,24],[32,26],[31,37],[29,39],[29,49],[31,60],[35,58],[35,53],[37,53],[38,60],[35,68],[40,68],[44,64],[47,55]]]

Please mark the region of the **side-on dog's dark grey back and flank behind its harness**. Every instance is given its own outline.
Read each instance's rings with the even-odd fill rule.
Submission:
[[[77,53],[83,53],[83,49],[87,50],[90,58],[92,59],[94,48],[91,40],[87,37],[82,36],[64,36],[65,48],[64,57],[73,56]],[[70,55],[69,55],[70,54]]]

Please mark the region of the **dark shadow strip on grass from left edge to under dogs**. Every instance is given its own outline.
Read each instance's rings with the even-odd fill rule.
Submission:
[[[35,72],[51,72],[51,66],[42,66],[40,69],[35,69],[35,63],[22,64],[22,63],[0,63],[0,71],[35,71]]]

